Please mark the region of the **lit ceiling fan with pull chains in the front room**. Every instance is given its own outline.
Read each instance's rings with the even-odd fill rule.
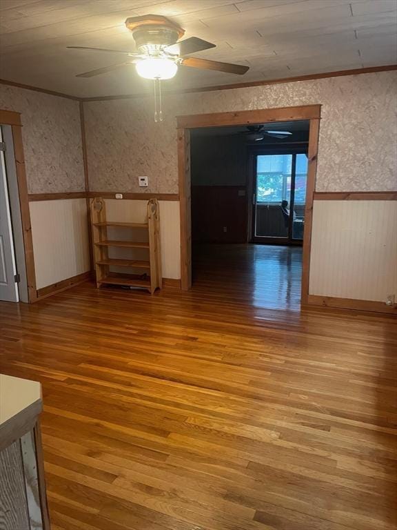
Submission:
[[[77,77],[94,77],[132,64],[135,65],[136,71],[141,77],[155,80],[171,79],[176,75],[179,66],[217,70],[238,75],[243,75],[249,70],[248,66],[240,64],[186,57],[192,53],[215,48],[216,45],[198,37],[190,37],[180,41],[179,39],[183,37],[185,30],[161,15],[147,14],[143,17],[130,17],[125,21],[125,26],[132,32],[137,53],[104,48],[86,48],[85,46],[68,46],[74,50],[92,50],[125,56],[125,59],[119,63],[83,72]]]

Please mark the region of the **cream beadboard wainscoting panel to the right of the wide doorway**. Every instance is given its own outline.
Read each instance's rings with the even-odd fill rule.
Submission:
[[[397,297],[396,227],[396,200],[314,200],[309,295]]]

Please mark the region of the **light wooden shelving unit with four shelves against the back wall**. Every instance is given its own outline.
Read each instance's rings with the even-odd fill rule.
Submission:
[[[96,286],[121,285],[141,287],[151,294],[162,286],[161,250],[160,250],[160,216],[157,199],[147,202],[147,222],[128,223],[108,221],[106,219],[105,201],[101,197],[92,199],[90,205],[92,246],[96,273]],[[108,237],[108,229],[120,229],[128,239]],[[139,235],[139,237],[137,237]],[[138,239],[134,240],[134,237]],[[142,241],[141,239],[145,239]],[[128,257],[113,257],[112,248],[123,248]],[[147,253],[147,260],[131,257],[134,249]],[[120,273],[112,268],[123,268]]]

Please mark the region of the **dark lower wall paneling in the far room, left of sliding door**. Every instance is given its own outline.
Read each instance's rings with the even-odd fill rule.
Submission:
[[[192,239],[201,243],[247,241],[245,186],[192,186]],[[223,232],[223,227],[227,232]]]

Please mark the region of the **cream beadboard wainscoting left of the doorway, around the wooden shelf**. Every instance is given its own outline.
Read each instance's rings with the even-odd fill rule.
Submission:
[[[59,195],[60,197],[57,197]],[[30,196],[34,264],[37,295],[48,296],[72,287],[90,276],[90,235],[86,199],[52,200]],[[108,219],[143,222],[147,200],[105,199]],[[179,237],[179,202],[159,201],[161,224],[161,260],[167,286],[179,285],[181,278]],[[168,283],[167,283],[168,282]]]

